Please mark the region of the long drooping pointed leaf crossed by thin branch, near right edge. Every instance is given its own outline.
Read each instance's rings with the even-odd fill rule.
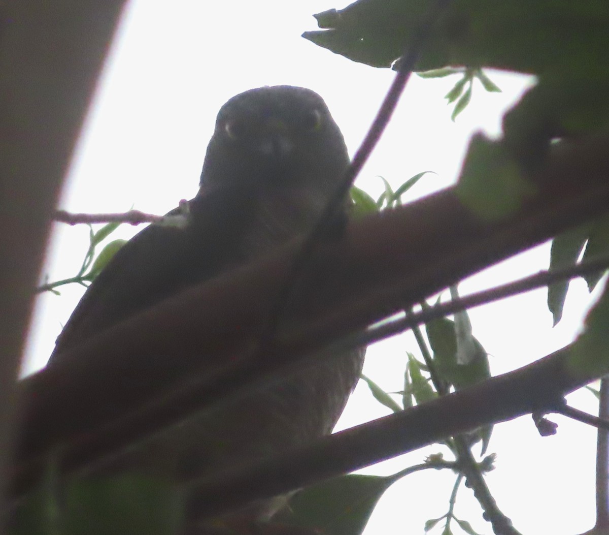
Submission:
[[[550,271],[572,266],[577,262],[589,231],[590,225],[582,225],[563,232],[552,240]],[[554,317],[554,325],[557,325],[563,316],[563,306],[570,282],[569,279],[560,280],[547,286],[547,308]]]

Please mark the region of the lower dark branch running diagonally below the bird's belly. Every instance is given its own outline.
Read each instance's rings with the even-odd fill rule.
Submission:
[[[361,469],[448,436],[534,411],[552,411],[563,395],[592,379],[574,373],[566,347],[514,372],[340,431],[269,461],[192,481],[190,512],[201,518],[215,517],[253,499],[270,498]]]

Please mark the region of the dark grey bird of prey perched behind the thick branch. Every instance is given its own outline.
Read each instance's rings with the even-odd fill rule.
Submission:
[[[232,97],[217,115],[199,192],[187,210],[171,212],[185,214],[185,223],[151,224],[114,255],[58,336],[48,366],[65,364],[69,349],[126,317],[311,232],[349,163],[343,135],[314,91],[278,85]],[[345,198],[337,216],[349,208]],[[114,468],[179,483],[309,444],[333,430],[364,353],[348,350],[185,420],[119,456]],[[267,522],[285,502],[263,500],[234,518]],[[186,519],[191,526],[195,513]],[[183,533],[208,533],[205,525]]]

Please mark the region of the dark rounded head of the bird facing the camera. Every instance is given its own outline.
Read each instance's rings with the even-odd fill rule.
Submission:
[[[201,187],[333,190],[348,163],[345,141],[322,97],[301,87],[261,87],[220,108]]]

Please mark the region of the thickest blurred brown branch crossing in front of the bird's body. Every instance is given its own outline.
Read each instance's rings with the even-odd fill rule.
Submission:
[[[609,205],[608,145],[605,135],[560,147],[536,177],[538,195],[503,221],[479,221],[449,189],[351,223],[342,241],[319,247],[275,352],[259,354],[258,336],[298,241],[100,333],[21,384],[17,486],[59,443],[64,468],[82,468],[306,355],[327,358],[319,350],[334,340],[595,216]]]

